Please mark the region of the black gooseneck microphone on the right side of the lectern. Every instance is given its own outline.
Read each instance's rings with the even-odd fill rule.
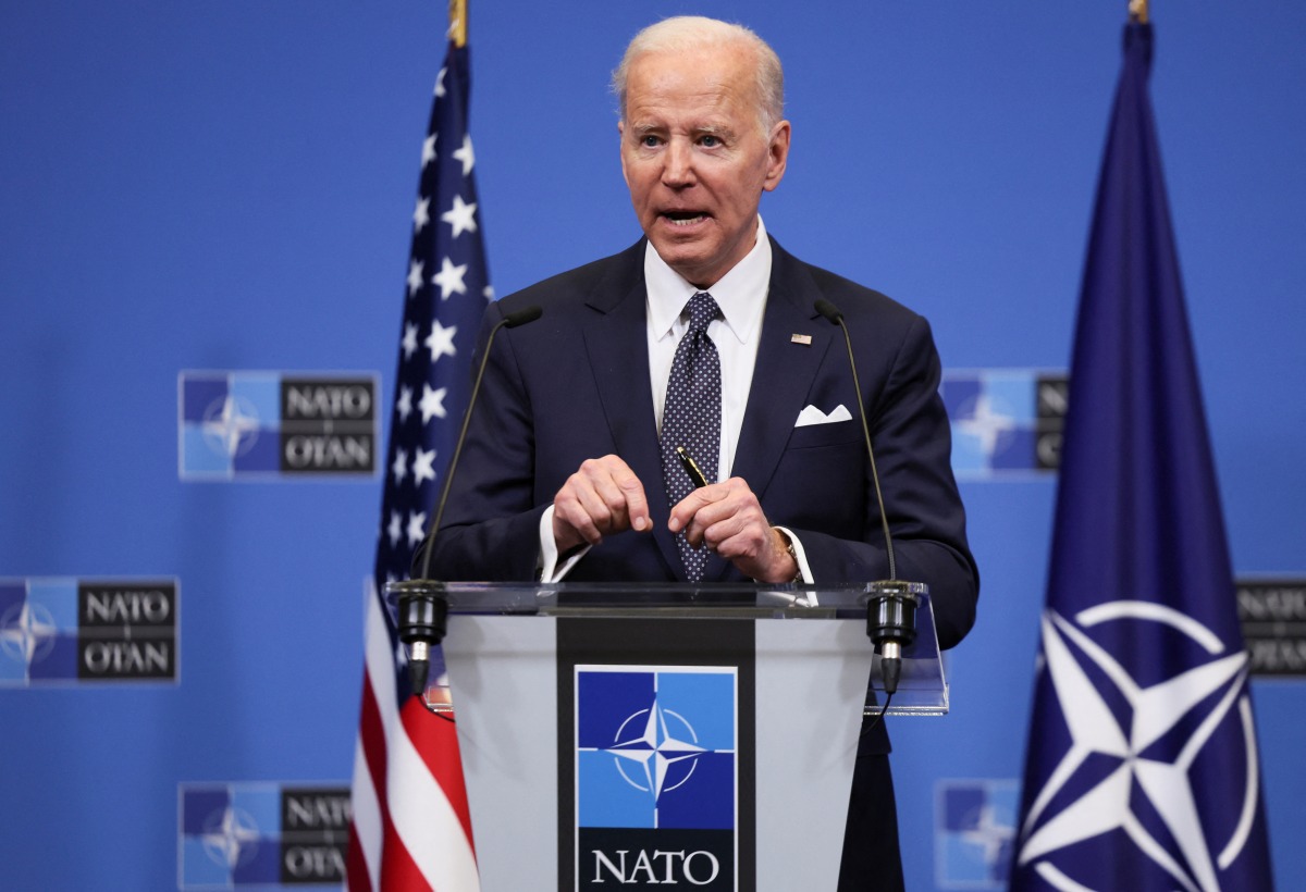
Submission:
[[[889,559],[889,577],[867,584],[870,599],[866,610],[866,633],[880,650],[880,675],[884,679],[884,692],[892,696],[897,691],[899,677],[902,673],[902,648],[916,641],[916,609],[921,603],[918,593],[927,592],[929,588],[923,582],[902,582],[897,577],[893,537],[889,534],[889,518],[884,512],[880,475],[875,470],[875,449],[871,447],[871,428],[866,423],[866,404],[862,402],[862,383],[857,376],[857,359],[853,358],[853,338],[848,334],[848,325],[844,324],[844,313],[838,311],[838,307],[824,298],[818,300],[815,307],[816,312],[844,330],[848,364],[853,370],[853,390],[857,393],[857,411],[862,419],[862,436],[866,438],[866,456],[871,460],[871,483],[875,486],[875,500],[880,508],[884,551]]]

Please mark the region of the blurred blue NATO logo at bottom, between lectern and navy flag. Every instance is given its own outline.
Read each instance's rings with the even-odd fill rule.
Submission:
[[[935,785],[934,882],[940,889],[1007,888],[1020,785],[940,780]]]

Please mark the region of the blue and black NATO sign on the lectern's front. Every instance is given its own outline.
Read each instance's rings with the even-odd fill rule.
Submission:
[[[735,889],[729,666],[576,666],[576,888]]]

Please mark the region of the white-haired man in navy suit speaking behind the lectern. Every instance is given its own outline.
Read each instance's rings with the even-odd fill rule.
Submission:
[[[507,313],[539,306],[543,317],[494,343],[432,569],[503,581],[887,577],[848,357],[814,308],[828,300],[854,338],[899,576],[930,585],[939,644],[957,644],[978,573],[930,327],[793,257],[763,225],[791,137],[776,54],[738,25],[669,18],[635,37],[614,88],[644,236],[490,306],[482,345]],[[883,726],[863,735],[841,891],[902,887],[888,751]]]

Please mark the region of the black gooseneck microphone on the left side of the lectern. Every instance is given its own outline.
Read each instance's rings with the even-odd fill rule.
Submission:
[[[444,486],[440,488],[440,500],[436,503],[435,520],[426,530],[426,539],[422,542],[424,554],[422,555],[422,573],[415,580],[398,582],[398,627],[400,640],[409,648],[409,682],[413,693],[421,696],[426,692],[426,682],[431,673],[431,648],[444,640],[445,622],[449,615],[449,602],[444,597],[444,582],[431,579],[431,554],[435,551],[435,534],[440,529],[440,520],[444,517],[444,505],[449,500],[449,485],[453,482],[453,471],[458,466],[458,456],[462,454],[462,444],[468,439],[468,424],[471,422],[471,410],[477,405],[481,394],[481,381],[486,375],[486,364],[490,362],[490,349],[502,328],[517,328],[526,323],[533,323],[545,311],[539,307],[525,307],[511,312],[500,319],[486,338],[485,354],[481,357],[481,366],[477,368],[477,379],[471,385],[471,397],[468,400],[468,409],[462,413],[462,428],[453,447],[453,457],[444,471]]]

